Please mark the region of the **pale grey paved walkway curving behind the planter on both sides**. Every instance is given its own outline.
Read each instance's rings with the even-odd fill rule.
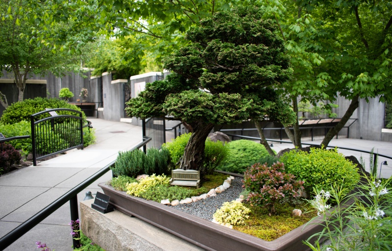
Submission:
[[[97,143],[95,145],[83,151],[71,151],[43,161],[36,167],[30,166],[0,176],[0,236],[25,222],[52,201],[115,160],[118,151],[129,150],[142,141],[142,128],[139,126],[100,119],[90,119],[90,121],[96,130]],[[318,143],[318,141],[313,143]],[[275,151],[293,148],[292,144],[273,143],[273,145]],[[375,151],[392,155],[392,143],[334,139],[331,145],[368,151],[376,147]],[[345,151],[343,154],[355,155],[358,158],[360,156],[359,153]],[[368,154],[362,155],[368,158]],[[392,175],[392,160],[387,161],[389,165],[383,165],[382,176],[384,177]],[[111,172],[99,178],[85,191],[78,194],[78,201],[84,199],[86,191],[92,191],[93,194],[100,191],[97,184],[110,178]],[[70,206],[66,203],[5,250],[37,251],[35,242],[41,241],[52,250],[72,251],[69,222]]]

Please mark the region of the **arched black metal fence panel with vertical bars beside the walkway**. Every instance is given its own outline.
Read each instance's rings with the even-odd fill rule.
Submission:
[[[58,111],[67,114],[58,115]],[[83,149],[83,119],[80,111],[48,109],[31,115],[30,121],[34,166],[39,159],[74,148]]]

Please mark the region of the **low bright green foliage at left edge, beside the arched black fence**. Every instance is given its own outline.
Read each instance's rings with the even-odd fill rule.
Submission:
[[[0,132],[6,137],[15,137],[23,135],[31,135],[31,125],[30,122],[21,121],[15,124],[3,124],[0,123]],[[17,139],[8,142],[15,149],[21,149],[24,155],[32,152],[31,137],[27,139]]]

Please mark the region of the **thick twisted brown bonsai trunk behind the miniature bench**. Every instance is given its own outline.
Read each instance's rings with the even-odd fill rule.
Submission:
[[[205,140],[212,128],[214,128],[214,124],[196,123],[192,127],[194,131],[180,161],[180,168],[184,170],[200,169],[204,160]]]

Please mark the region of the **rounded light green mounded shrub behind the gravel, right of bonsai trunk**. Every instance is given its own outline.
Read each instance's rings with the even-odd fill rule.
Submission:
[[[266,148],[254,141],[235,140],[226,144],[229,155],[221,163],[219,169],[232,173],[243,173],[249,164],[254,164],[263,156],[268,156]]]

